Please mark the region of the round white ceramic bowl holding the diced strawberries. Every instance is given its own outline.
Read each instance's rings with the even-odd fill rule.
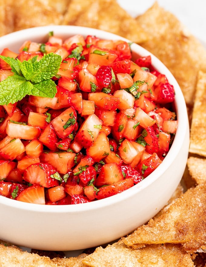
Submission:
[[[0,52],[8,47],[18,52],[25,40],[44,42],[48,32],[63,39],[75,34],[101,39],[120,36],[78,26],[43,26],[0,38]],[[150,52],[132,44],[133,54],[151,55],[153,66],[174,86],[178,129],[164,161],[146,179],[132,188],[94,202],[77,205],[39,205],[0,196],[0,239],[43,250],[77,250],[98,246],[124,236],[146,223],[169,200],[183,175],[189,147],[187,109],[181,89],[170,71]],[[178,63],[177,63],[178,64]]]

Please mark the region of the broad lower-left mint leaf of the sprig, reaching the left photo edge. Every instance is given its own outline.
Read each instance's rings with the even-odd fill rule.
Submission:
[[[0,104],[8,105],[21,100],[27,94],[31,94],[32,88],[32,83],[26,81],[24,77],[8,76],[0,83]]]

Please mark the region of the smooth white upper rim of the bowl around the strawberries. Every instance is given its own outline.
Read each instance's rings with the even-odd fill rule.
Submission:
[[[20,31],[12,32],[12,33],[9,33],[7,35],[0,37],[0,44],[1,44],[0,47],[2,46],[3,43],[5,43],[5,45],[3,45],[4,46],[3,48],[5,48],[6,46],[9,46],[10,43],[15,44],[15,42],[17,42],[18,39],[24,39],[24,40],[31,39],[32,41],[35,41],[35,39],[39,38],[40,36],[41,36],[41,39],[43,39],[44,37],[48,38],[48,32],[51,32],[51,31],[54,32],[55,36],[68,35],[68,37],[70,37],[75,34],[81,34],[84,37],[86,37],[87,35],[95,35],[101,39],[116,39],[116,40],[121,39],[123,41],[131,43],[131,46],[130,46],[131,50],[134,51],[135,53],[141,56],[150,55],[152,58],[152,65],[154,66],[154,68],[157,69],[159,72],[165,74],[166,77],[168,78],[169,83],[171,83],[174,86],[175,108],[176,108],[177,119],[178,119],[177,132],[175,134],[173,144],[168,154],[164,158],[163,162],[157,167],[157,169],[155,169],[151,174],[148,175],[148,177],[146,177],[140,183],[134,185],[133,187],[119,194],[110,196],[108,198],[95,200],[95,201],[91,201],[88,203],[82,203],[78,205],[33,204],[33,203],[26,203],[26,202],[21,202],[21,201],[14,201],[13,199],[6,198],[0,195],[0,204],[11,206],[12,208],[27,210],[27,211],[39,211],[39,212],[46,212],[46,213],[62,213],[62,212],[63,213],[78,213],[81,211],[85,212],[88,210],[99,209],[101,207],[110,206],[111,204],[115,204],[119,201],[124,201],[128,197],[134,194],[137,194],[139,191],[145,189],[150,184],[152,184],[154,181],[156,181],[159,178],[159,176],[161,176],[166,171],[166,169],[170,166],[171,162],[174,161],[175,157],[177,156],[179,152],[181,144],[183,143],[185,135],[187,134],[187,130],[188,130],[187,108],[186,108],[184,96],[180,89],[180,86],[178,85],[176,79],[171,74],[169,69],[151,52],[144,49],[140,45],[131,42],[128,39],[125,39],[119,35],[116,35],[110,32],[105,32],[103,30],[82,27],[82,26],[73,26],[73,25],[39,26],[39,27],[33,27],[33,28],[28,28],[28,29],[23,29]]]

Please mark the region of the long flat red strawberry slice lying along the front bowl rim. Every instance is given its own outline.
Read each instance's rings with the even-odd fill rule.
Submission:
[[[97,199],[108,198],[121,193],[134,185],[133,179],[125,179],[114,184],[99,188]]]

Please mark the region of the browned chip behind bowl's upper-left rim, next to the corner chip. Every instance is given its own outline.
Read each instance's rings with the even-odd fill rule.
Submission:
[[[14,30],[44,26],[59,25],[63,20],[63,14],[57,11],[55,5],[47,5],[41,0],[14,1]]]

